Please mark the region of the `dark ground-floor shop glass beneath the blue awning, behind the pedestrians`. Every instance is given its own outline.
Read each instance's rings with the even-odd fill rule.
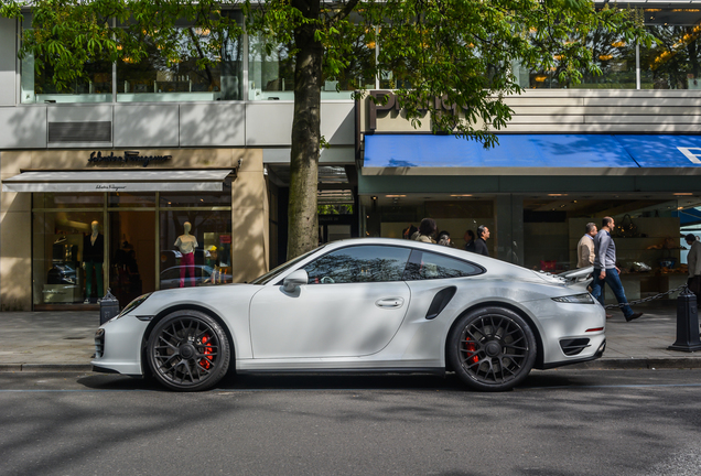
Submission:
[[[601,227],[602,218],[615,220],[612,234],[617,266],[628,300],[646,298],[687,282],[687,248],[680,238],[701,234],[698,194],[568,194],[540,196],[464,196],[452,201],[402,195],[365,202],[368,236],[401,238],[422,217],[435,219],[439,231],[449,231],[453,247],[464,248],[466,231],[486,225],[489,255],[532,270],[559,273],[575,269],[576,248],[586,224]],[[370,203],[373,198],[370,198]],[[499,201],[519,204],[499,207]],[[401,205],[400,205],[401,204]],[[522,204],[522,206],[520,206]],[[676,295],[672,295],[675,298]],[[607,300],[614,300],[608,295]]]

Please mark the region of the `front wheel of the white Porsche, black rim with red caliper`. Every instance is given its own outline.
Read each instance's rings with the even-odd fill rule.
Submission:
[[[198,311],[166,315],[155,325],[147,344],[153,378],[177,391],[214,387],[226,375],[230,355],[222,326]]]

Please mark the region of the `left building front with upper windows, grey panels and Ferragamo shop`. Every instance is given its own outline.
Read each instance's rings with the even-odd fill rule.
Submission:
[[[153,48],[138,65],[89,65],[87,80],[56,90],[32,57],[18,58],[30,20],[0,19],[1,310],[96,309],[108,288],[123,306],[158,289],[248,281],[284,260],[284,51],[269,56],[239,35],[203,72],[187,48],[172,67]],[[355,105],[327,86],[320,196],[353,204]],[[357,224],[328,227],[334,239]]]

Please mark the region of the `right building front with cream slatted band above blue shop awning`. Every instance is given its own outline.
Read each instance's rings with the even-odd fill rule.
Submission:
[[[686,282],[680,236],[701,235],[701,2],[630,4],[658,42],[593,35],[602,74],[580,85],[513,65],[525,90],[506,98],[514,117],[494,149],[433,134],[429,116],[413,129],[391,84],[371,91],[387,101],[358,104],[363,232],[401,237],[432,217],[463,247],[486,225],[493,257],[559,272],[576,266],[585,225],[613,216],[628,299]]]

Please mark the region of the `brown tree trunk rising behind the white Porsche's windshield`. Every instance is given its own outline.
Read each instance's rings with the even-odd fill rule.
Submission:
[[[293,0],[306,18],[317,19],[320,2]],[[316,188],[321,141],[322,45],[314,40],[314,26],[294,31],[294,117],[290,156],[290,204],[288,207],[288,259],[319,245]]]

